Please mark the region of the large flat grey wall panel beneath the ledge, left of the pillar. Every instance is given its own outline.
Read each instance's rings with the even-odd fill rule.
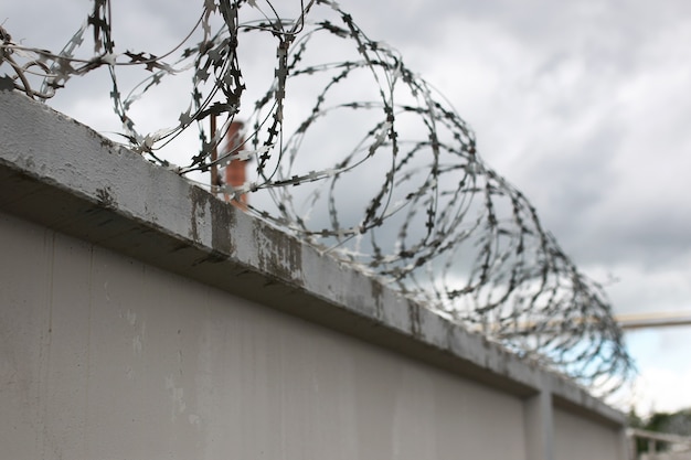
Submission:
[[[0,214],[7,459],[513,459],[520,398]]]

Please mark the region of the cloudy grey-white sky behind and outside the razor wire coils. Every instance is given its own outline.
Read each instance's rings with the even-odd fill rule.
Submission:
[[[116,44],[162,52],[201,3],[119,0]],[[449,99],[480,154],[528,195],[582,271],[606,286],[617,313],[691,311],[691,2],[351,0],[341,8]],[[15,41],[57,51],[87,11],[84,0],[11,0],[0,22]],[[109,87],[88,78],[51,104],[98,130],[117,129]],[[640,371],[639,411],[691,407],[691,327],[626,339]]]

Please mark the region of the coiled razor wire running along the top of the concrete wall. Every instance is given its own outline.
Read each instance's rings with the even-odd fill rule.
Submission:
[[[286,20],[268,1],[205,0],[192,31],[162,56],[118,52],[110,7],[95,0],[59,53],[1,30],[0,64],[10,73],[0,89],[47,99],[72,77],[105,67],[121,136],[150,161],[188,175],[248,161],[249,181],[221,184],[231,197],[252,193],[248,212],[594,389],[629,377],[602,287],[576,269],[525,196],[480,160],[449,104],[336,2],[301,3]],[[94,54],[78,58],[87,32]],[[272,78],[246,111],[240,56],[261,40],[272,43],[262,56]],[[125,96],[123,67],[148,73]],[[140,132],[132,106],[185,73],[190,100],[178,124]],[[211,117],[222,120],[214,132]],[[246,121],[246,141],[215,158],[236,117]],[[161,149],[191,125],[201,147],[174,165]]]

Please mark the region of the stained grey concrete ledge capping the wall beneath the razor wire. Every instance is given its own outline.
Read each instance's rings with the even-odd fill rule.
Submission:
[[[0,208],[521,397],[624,417],[375,280],[18,93],[0,92]]]

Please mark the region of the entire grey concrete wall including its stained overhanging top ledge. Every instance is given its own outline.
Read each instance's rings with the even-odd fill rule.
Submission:
[[[2,458],[625,458],[572,383],[8,92],[0,254]]]

